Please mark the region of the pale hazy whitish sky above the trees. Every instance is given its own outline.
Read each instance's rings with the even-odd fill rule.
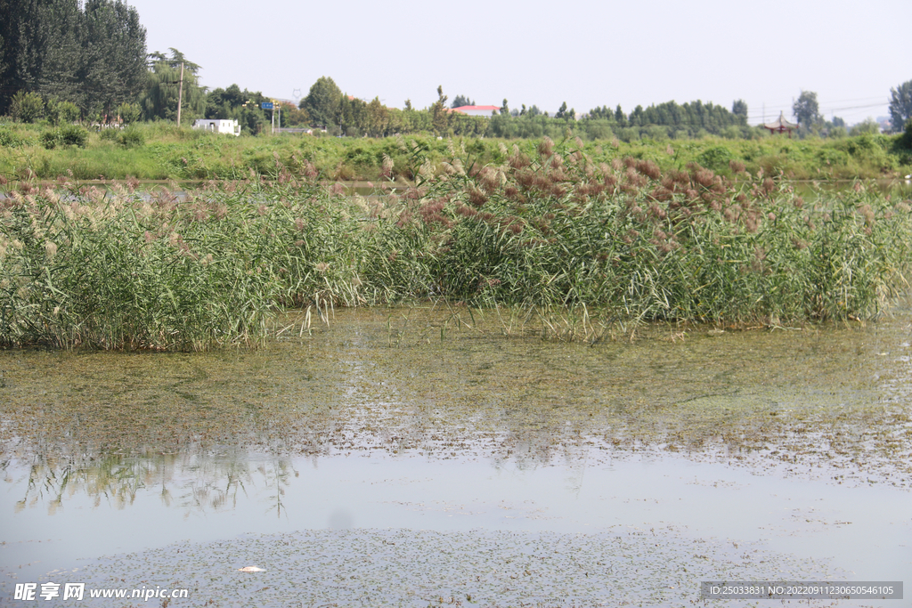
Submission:
[[[149,51],[178,48],[202,85],[295,99],[321,76],[349,95],[415,108],[461,94],[479,105],[742,98],[751,124],[815,91],[826,119],[886,116],[912,80],[912,0],[318,2],[128,0]]]

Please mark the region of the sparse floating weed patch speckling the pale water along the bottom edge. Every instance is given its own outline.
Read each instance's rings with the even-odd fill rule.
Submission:
[[[737,545],[738,543],[736,543]],[[175,560],[173,555],[180,555]],[[747,559],[745,559],[747,558]],[[234,571],[258,560],[256,584]],[[686,564],[682,566],[681,564]],[[306,530],[244,534],[231,541],[181,541],[80,564],[56,580],[101,587],[122,579],[137,588],[150,571],[171,588],[192,590],[189,606],[282,606],[288,589],[302,605],[554,606],[686,605],[700,580],[762,579],[774,567],[803,580],[836,578],[821,559],[761,543],[693,539],[672,528],[554,531]],[[135,582],[135,583],[134,583]],[[672,584],[669,584],[672,582]],[[148,584],[148,582],[147,582]],[[726,601],[731,603],[731,601]],[[60,605],[78,605],[76,602]]]

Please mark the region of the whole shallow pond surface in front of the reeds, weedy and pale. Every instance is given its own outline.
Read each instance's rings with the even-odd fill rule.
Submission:
[[[375,309],[255,350],[2,352],[0,603],[48,580],[304,606],[901,581],[910,324],[899,305],[590,346],[503,314]]]

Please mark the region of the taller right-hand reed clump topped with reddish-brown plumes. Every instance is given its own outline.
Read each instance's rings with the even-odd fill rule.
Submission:
[[[732,183],[696,164],[594,166],[582,142],[552,148],[530,158],[514,147],[497,167],[457,160],[422,185],[408,211],[439,226],[430,257],[442,294],[775,325],[870,317],[903,283],[908,201],[857,183],[807,203],[762,174]]]

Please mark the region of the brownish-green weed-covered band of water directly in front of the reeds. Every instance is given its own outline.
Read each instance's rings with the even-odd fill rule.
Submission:
[[[219,510],[255,482],[281,515],[292,459],[375,452],[519,469],[592,448],[760,455],[906,484],[912,316],[895,313],[796,331],[652,327],[589,347],[506,339],[491,315],[429,340],[418,329],[440,313],[416,309],[415,335],[390,348],[389,313],[339,311],[313,338],[258,351],[6,351],[0,446],[6,479],[28,479],[17,509],[74,493],[126,508],[154,486],[166,505]]]

